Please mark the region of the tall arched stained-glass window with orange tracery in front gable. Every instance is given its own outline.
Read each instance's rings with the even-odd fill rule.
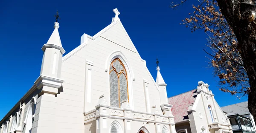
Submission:
[[[128,99],[127,72],[119,58],[114,59],[109,67],[110,106],[121,107],[121,102]]]

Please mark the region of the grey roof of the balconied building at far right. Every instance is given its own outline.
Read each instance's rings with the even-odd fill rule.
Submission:
[[[232,104],[228,106],[221,107],[221,110],[227,113],[227,116],[239,114],[239,115],[247,115],[250,114],[248,109],[248,101],[244,101],[238,104]]]

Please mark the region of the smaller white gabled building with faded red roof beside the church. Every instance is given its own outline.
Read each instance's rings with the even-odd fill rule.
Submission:
[[[198,87],[168,98],[177,133],[233,133],[229,118],[203,81]]]

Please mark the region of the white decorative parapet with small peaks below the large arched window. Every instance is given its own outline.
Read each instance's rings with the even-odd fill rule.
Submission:
[[[104,98],[104,95],[100,96],[98,105],[95,106],[96,109],[93,109],[89,112],[84,113],[84,123],[98,119],[99,117],[104,118],[118,118],[123,120],[131,121],[143,121],[151,123],[163,123],[163,124],[175,124],[174,116],[170,109],[166,109],[165,115],[158,112],[157,106],[152,107],[153,113],[145,113],[134,111],[129,108],[127,100],[122,102],[121,108],[110,107],[108,102]]]

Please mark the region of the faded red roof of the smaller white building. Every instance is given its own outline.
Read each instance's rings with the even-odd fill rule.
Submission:
[[[197,89],[168,98],[168,103],[173,105],[171,110],[175,123],[189,119],[187,110],[189,109],[189,105],[195,102],[197,95],[196,90]]]

